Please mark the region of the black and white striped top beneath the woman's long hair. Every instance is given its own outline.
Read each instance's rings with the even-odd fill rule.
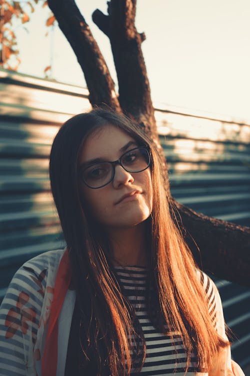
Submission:
[[[186,354],[179,335],[165,336],[154,328],[145,311],[145,284],[147,269],[145,267],[115,267],[117,276],[124,288],[125,295],[133,306],[141,324],[146,342],[146,358],[141,369],[144,376],[166,375],[175,372],[183,375],[186,366]],[[206,292],[210,315],[215,319],[214,291],[211,280],[202,272],[197,271],[201,284]],[[199,276],[200,274],[200,276]],[[192,354],[187,376],[195,374],[196,358]],[[135,373],[131,373],[133,375]]]

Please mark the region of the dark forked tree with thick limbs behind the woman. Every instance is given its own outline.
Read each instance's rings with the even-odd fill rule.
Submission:
[[[145,35],[137,32],[134,23],[136,0],[110,0],[107,15],[99,10],[92,14],[93,22],[110,41],[118,96],[105,60],[74,0],[48,0],[47,3],[77,57],[91,105],[108,105],[144,128],[160,152],[168,184],[141,51]],[[250,229],[197,214],[173,198],[171,203],[173,219],[200,267],[221,278],[250,286]]]

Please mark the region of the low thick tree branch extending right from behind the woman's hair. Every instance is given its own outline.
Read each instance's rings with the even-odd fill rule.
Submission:
[[[172,205],[199,267],[220,278],[250,286],[250,228],[197,214],[174,200]]]

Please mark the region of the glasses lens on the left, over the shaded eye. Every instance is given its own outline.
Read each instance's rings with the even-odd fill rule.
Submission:
[[[83,180],[91,188],[98,188],[105,185],[112,175],[112,165],[108,162],[101,162],[87,167],[83,172]]]

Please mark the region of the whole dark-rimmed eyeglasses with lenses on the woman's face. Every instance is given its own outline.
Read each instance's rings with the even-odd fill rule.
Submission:
[[[135,147],[113,162],[91,164],[80,172],[80,177],[89,188],[101,188],[113,179],[117,164],[127,172],[141,172],[149,167],[150,155],[145,147]]]

